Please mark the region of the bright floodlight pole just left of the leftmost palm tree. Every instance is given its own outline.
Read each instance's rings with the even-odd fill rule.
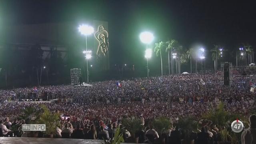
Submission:
[[[148,44],[154,40],[154,36],[151,32],[142,32],[140,33],[140,40],[142,43],[146,44],[145,58],[147,58],[147,76],[149,73],[148,69],[148,58],[151,58],[152,50],[148,49]]]

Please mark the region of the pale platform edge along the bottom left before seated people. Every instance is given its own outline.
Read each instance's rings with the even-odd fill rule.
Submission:
[[[103,140],[0,137],[0,144],[104,144]],[[122,143],[133,144],[133,143]]]

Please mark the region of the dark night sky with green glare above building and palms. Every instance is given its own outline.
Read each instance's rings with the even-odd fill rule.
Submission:
[[[139,40],[144,30],[154,33],[154,43],[172,38],[184,48],[195,43],[208,51],[214,44],[227,50],[241,43],[256,46],[252,0],[0,0],[1,28],[86,18],[108,21],[112,63],[145,64],[145,45]],[[159,64],[159,58],[152,59]]]

